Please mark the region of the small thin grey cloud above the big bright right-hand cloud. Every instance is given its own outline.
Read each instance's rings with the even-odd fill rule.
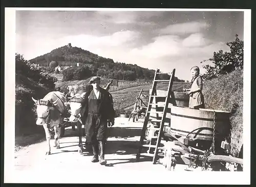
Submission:
[[[208,28],[210,25],[206,22],[185,22],[182,24],[173,24],[169,25],[166,28],[160,29],[159,33],[161,34],[189,34],[189,33],[198,33],[202,29]]]

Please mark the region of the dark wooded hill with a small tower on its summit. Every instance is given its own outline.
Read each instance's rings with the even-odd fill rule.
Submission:
[[[116,80],[153,80],[155,74],[153,69],[143,68],[136,64],[114,62],[113,59],[104,58],[81,48],[73,47],[71,43],[29,61],[39,64],[45,69],[52,61],[57,62],[59,66],[73,66],[62,72],[63,80],[66,81],[83,80],[95,75]],[[81,65],[77,67],[77,63]],[[80,74],[86,75],[86,77]],[[169,77],[167,74],[163,76]],[[175,78],[175,81],[184,82],[178,78]]]

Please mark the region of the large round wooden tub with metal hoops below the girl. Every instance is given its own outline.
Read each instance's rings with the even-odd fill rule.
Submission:
[[[214,112],[215,111],[215,112]],[[229,133],[230,112],[211,109],[190,109],[187,107],[171,107],[170,132],[175,135],[187,136],[203,140],[212,140],[214,129],[214,114],[216,138],[226,137]]]

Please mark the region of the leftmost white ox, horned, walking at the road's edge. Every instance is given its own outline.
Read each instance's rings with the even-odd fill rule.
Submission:
[[[51,134],[50,130],[54,129],[55,135],[55,146],[59,149],[59,137],[60,137],[60,127],[63,124],[64,116],[67,112],[65,107],[65,102],[67,99],[64,93],[59,91],[52,91],[49,92],[43,99],[35,100],[32,97],[33,101],[36,103],[37,108],[37,125],[42,125],[45,129],[46,133],[46,141],[48,145],[48,150],[46,155],[51,154],[51,146],[50,146],[50,139]]]

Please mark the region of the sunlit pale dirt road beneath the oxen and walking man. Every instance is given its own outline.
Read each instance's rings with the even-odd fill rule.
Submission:
[[[60,149],[53,147],[54,138],[51,138],[50,155],[45,155],[47,149],[45,138],[40,143],[17,151],[14,159],[15,171],[22,173],[24,177],[28,177],[28,180],[31,180],[35,173],[40,178],[42,175],[50,175],[48,172],[53,173],[51,176],[53,178],[63,172],[69,178],[71,174],[75,174],[78,171],[101,171],[107,174],[111,174],[113,171],[115,173],[117,171],[122,173],[127,171],[143,173],[150,171],[155,173],[169,172],[162,165],[153,165],[152,157],[144,156],[141,157],[139,162],[135,161],[142,125],[139,122],[133,123],[131,120],[128,122],[127,118],[116,118],[115,125],[110,129],[110,136],[106,143],[105,159],[107,166],[92,163],[90,161],[92,155],[88,151],[82,154],[77,152],[77,130],[72,131],[70,128],[66,129],[65,137],[60,139]],[[82,141],[84,144],[84,137]],[[176,171],[184,171],[185,167],[182,165],[176,167]],[[32,179],[35,180],[33,177]]]

